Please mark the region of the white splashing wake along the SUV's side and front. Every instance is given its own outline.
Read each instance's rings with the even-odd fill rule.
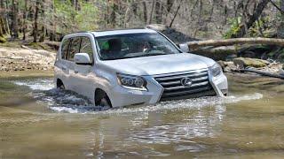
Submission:
[[[33,90],[33,95],[38,102],[46,102],[51,110],[67,113],[91,113],[104,110],[102,107],[96,107],[82,95],[77,95],[70,91],[62,91],[54,88],[52,79],[28,79],[14,81],[20,86],[27,86]],[[186,99],[171,102],[159,102],[155,105],[146,105],[138,107],[126,107],[120,109],[110,109],[99,112],[99,114],[122,114],[137,113],[157,110],[179,110],[188,108],[201,108],[203,106],[220,105],[247,100],[257,100],[263,97],[262,94],[248,95],[230,95],[226,97],[201,97],[196,99]]]

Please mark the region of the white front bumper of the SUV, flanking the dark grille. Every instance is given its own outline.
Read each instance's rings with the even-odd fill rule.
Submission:
[[[131,90],[121,86],[114,87],[109,95],[113,107],[160,102],[164,88],[152,76],[144,78],[147,80],[148,91]],[[209,73],[209,83],[217,96],[227,94],[228,83],[224,73],[217,78],[213,78]]]

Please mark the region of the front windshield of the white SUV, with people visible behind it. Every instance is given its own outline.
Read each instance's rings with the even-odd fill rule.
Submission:
[[[115,34],[96,39],[101,60],[180,53],[171,42],[158,33]]]

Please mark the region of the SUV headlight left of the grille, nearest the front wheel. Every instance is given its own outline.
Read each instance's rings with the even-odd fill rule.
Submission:
[[[117,73],[118,83],[122,87],[146,91],[146,80],[139,76]]]

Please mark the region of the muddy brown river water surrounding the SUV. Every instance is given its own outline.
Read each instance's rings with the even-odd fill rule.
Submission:
[[[0,79],[0,158],[284,157],[284,82],[230,77],[230,95],[101,110],[51,78]]]

